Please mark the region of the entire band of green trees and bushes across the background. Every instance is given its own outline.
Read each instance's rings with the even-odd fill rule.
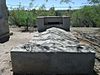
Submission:
[[[46,0],[48,1],[48,0]],[[100,27],[100,0],[87,0],[88,2],[94,3],[91,6],[84,6],[78,10],[69,10],[67,11],[55,11],[54,7],[51,7],[49,10],[46,10],[45,5],[39,7],[38,10],[32,9],[34,0],[31,0],[29,3],[29,9],[25,10],[24,7],[19,3],[17,9],[10,11],[9,22],[13,25],[19,27],[25,26],[28,30],[29,26],[35,25],[37,16],[70,16],[72,26],[98,26]],[[71,0],[61,0],[61,2],[71,2]],[[98,4],[97,4],[98,3]],[[32,9],[32,10],[31,10]]]

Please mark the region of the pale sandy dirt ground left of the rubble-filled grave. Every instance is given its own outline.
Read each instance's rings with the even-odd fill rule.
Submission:
[[[12,75],[10,50],[11,48],[27,43],[32,39],[32,33],[21,32],[19,28],[10,28],[13,35],[10,40],[4,44],[0,44],[0,75]]]

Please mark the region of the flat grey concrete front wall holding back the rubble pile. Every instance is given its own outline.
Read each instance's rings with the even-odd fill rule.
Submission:
[[[19,74],[88,74],[93,72],[93,53],[11,52],[13,72]]]

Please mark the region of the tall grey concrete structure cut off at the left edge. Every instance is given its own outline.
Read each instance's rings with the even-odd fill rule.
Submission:
[[[9,40],[8,9],[6,0],[0,0],[0,43]]]

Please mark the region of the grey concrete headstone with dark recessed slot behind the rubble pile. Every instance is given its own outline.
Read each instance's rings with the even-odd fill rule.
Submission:
[[[37,27],[39,32],[43,32],[51,27],[62,28],[70,31],[70,17],[68,16],[41,16],[37,18]]]

